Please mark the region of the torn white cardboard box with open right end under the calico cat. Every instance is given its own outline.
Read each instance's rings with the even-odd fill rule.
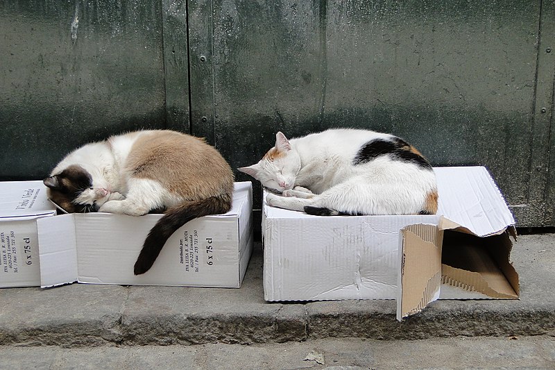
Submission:
[[[515,220],[484,167],[438,167],[437,215],[319,217],[263,204],[266,301],[518,298]]]

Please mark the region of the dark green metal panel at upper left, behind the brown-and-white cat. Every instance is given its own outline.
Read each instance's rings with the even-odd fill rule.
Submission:
[[[76,146],[163,127],[160,1],[0,3],[0,176],[40,178]]]

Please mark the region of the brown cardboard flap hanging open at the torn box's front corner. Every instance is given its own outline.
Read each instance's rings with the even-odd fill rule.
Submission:
[[[434,225],[403,228],[400,299],[397,319],[420,312],[435,301],[441,286],[441,243],[443,231]]]

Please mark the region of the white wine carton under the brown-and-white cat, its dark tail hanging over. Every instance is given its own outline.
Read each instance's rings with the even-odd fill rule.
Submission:
[[[235,183],[224,215],[189,221],[168,239],[153,267],[133,265],[148,231],[162,215],[74,213],[40,219],[42,287],[65,283],[240,287],[253,250],[252,183]]]

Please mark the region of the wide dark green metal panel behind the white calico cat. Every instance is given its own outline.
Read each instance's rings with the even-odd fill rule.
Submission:
[[[434,165],[485,165],[533,224],[545,179],[531,162],[547,165],[531,150],[540,5],[214,1],[216,143],[237,166],[278,130],[394,133]]]

